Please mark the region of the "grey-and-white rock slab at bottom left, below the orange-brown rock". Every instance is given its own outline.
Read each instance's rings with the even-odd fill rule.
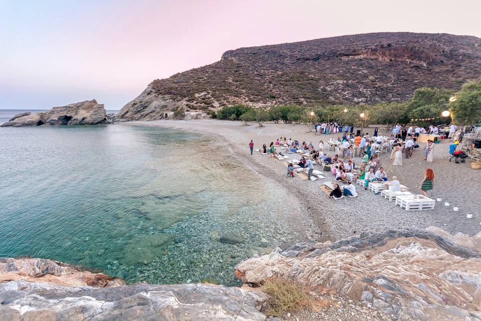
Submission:
[[[2,320],[245,320],[263,321],[260,292],[213,284],[60,287],[0,284]]]

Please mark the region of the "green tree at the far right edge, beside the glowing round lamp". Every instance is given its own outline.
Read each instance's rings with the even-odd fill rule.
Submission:
[[[471,125],[481,121],[481,78],[465,83],[449,104],[456,124]]]

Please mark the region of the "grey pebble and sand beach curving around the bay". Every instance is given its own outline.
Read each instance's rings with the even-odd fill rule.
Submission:
[[[414,151],[413,157],[403,158],[401,167],[387,172],[389,177],[397,176],[401,184],[415,193],[418,192],[417,187],[424,171],[427,168],[434,170],[435,185],[430,197],[442,198],[442,202],[436,203],[435,209],[431,211],[405,211],[380,195],[359,189],[358,185],[356,187],[359,197],[330,200],[319,190],[319,185],[333,179],[329,172],[325,172],[325,179],[315,182],[302,181],[298,177],[291,179],[285,175],[286,167],[281,161],[256,152],[251,156],[248,146],[251,139],[254,140],[255,148],[260,148],[264,143],[269,145],[276,137],[281,136],[312,141],[318,146],[320,139],[327,141],[330,137],[337,138],[339,133],[316,136],[314,132],[309,132],[306,125],[266,123],[263,127],[258,127],[257,123],[244,126],[238,121],[216,119],[136,121],[124,125],[157,126],[218,136],[239,161],[271,179],[273,184],[279,184],[278,187],[282,186],[290,191],[293,199],[282,200],[280,206],[283,203],[297,203],[299,200],[302,209],[311,215],[318,232],[323,233],[324,239],[339,240],[368,230],[382,231],[405,227],[436,226],[451,233],[462,232],[469,235],[481,230],[481,170],[472,170],[469,163],[449,162],[447,139],[435,144],[433,163],[423,161],[424,143],[421,143],[421,148]],[[364,131],[371,133],[372,130],[370,128]],[[334,154],[332,151],[329,153]],[[360,164],[359,158],[356,158],[356,163]],[[389,154],[381,156],[381,164],[385,169],[391,168]],[[315,169],[322,170],[319,167]],[[450,203],[450,206],[445,207],[444,202]],[[453,206],[458,207],[459,211],[453,212]],[[473,218],[467,219],[466,214],[472,214]]]

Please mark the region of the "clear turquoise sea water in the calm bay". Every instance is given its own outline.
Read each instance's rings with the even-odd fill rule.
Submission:
[[[0,110],[0,123],[19,112]],[[127,283],[239,285],[237,263],[305,237],[287,198],[213,136],[0,127],[0,256],[59,260]]]

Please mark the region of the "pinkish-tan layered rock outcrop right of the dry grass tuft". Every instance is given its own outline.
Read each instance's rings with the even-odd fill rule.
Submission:
[[[481,255],[464,247],[481,233],[447,237],[430,231],[363,233],[335,243],[301,243],[236,266],[246,283],[273,276],[315,293],[362,301],[396,319],[481,319]]]

